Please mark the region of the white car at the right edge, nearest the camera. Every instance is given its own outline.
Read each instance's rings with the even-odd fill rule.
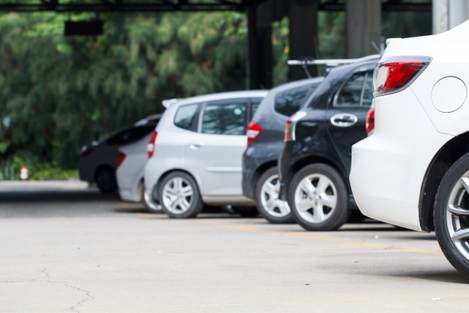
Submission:
[[[391,39],[374,75],[371,135],[353,146],[351,186],[367,216],[436,231],[469,276],[469,22]]]

